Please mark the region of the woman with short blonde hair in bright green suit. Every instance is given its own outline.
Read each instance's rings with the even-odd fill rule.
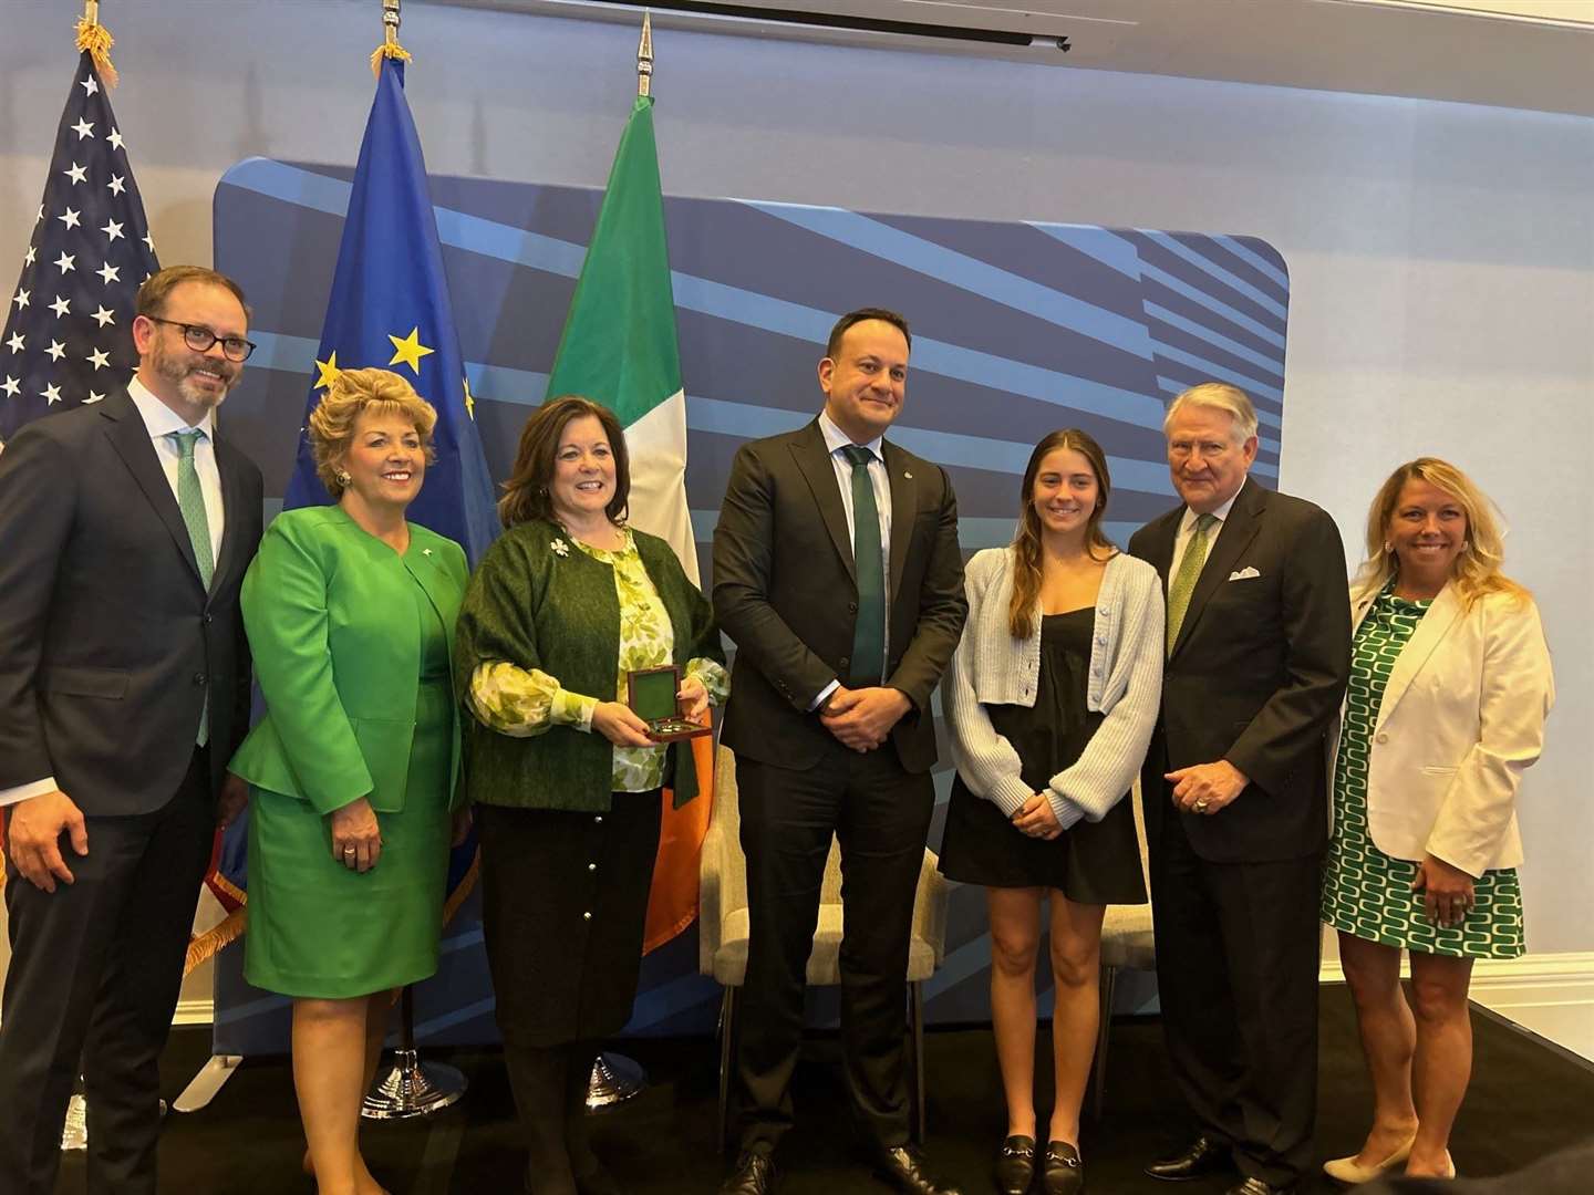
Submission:
[[[253,787],[244,975],[293,997],[293,1087],[320,1195],[376,1195],[360,1099],[392,991],[437,970],[459,720],[450,641],[469,570],[405,521],[437,411],[344,370],[309,417],[332,507],[279,515],[244,578],[266,717],[233,758]]]

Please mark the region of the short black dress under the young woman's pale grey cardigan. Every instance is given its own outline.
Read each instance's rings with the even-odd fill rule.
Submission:
[[[985,706],[991,727],[1019,752],[1023,782],[1041,792],[1079,758],[1101,715],[1086,703],[1095,610],[1041,620],[1041,676],[1033,706]],[[999,808],[952,782],[940,870],[987,887],[1055,887],[1086,905],[1140,905],[1146,886],[1129,797],[1100,822],[1076,822],[1052,840],[1015,830]]]

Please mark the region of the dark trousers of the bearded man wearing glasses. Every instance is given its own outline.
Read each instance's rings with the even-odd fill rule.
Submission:
[[[0,1189],[49,1195],[61,1123],[81,1068],[88,1189],[155,1195],[159,1056],[177,1009],[215,808],[194,752],[167,805],[89,817],[89,852],[65,835],[75,883],[41,892],[6,859],[11,966],[0,1020]]]

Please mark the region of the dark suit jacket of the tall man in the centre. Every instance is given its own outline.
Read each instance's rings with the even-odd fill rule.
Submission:
[[[913,709],[891,731],[902,766],[936,762],[929,698],[968,613],[958,507],[939,465],[885,441],[891,478],[886,685]],[[714,531],[714,615],[736,644],[725,744],[808,768],[835,742],[819,692],[848,671],[858,582],[846,508],[818,421],[741,446]]]

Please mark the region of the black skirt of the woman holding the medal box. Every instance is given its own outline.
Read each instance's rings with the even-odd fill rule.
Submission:
[[[609,1037],[631,1020],[663,800],[607,813],[477,805],[481,931],[512,1045]]]

